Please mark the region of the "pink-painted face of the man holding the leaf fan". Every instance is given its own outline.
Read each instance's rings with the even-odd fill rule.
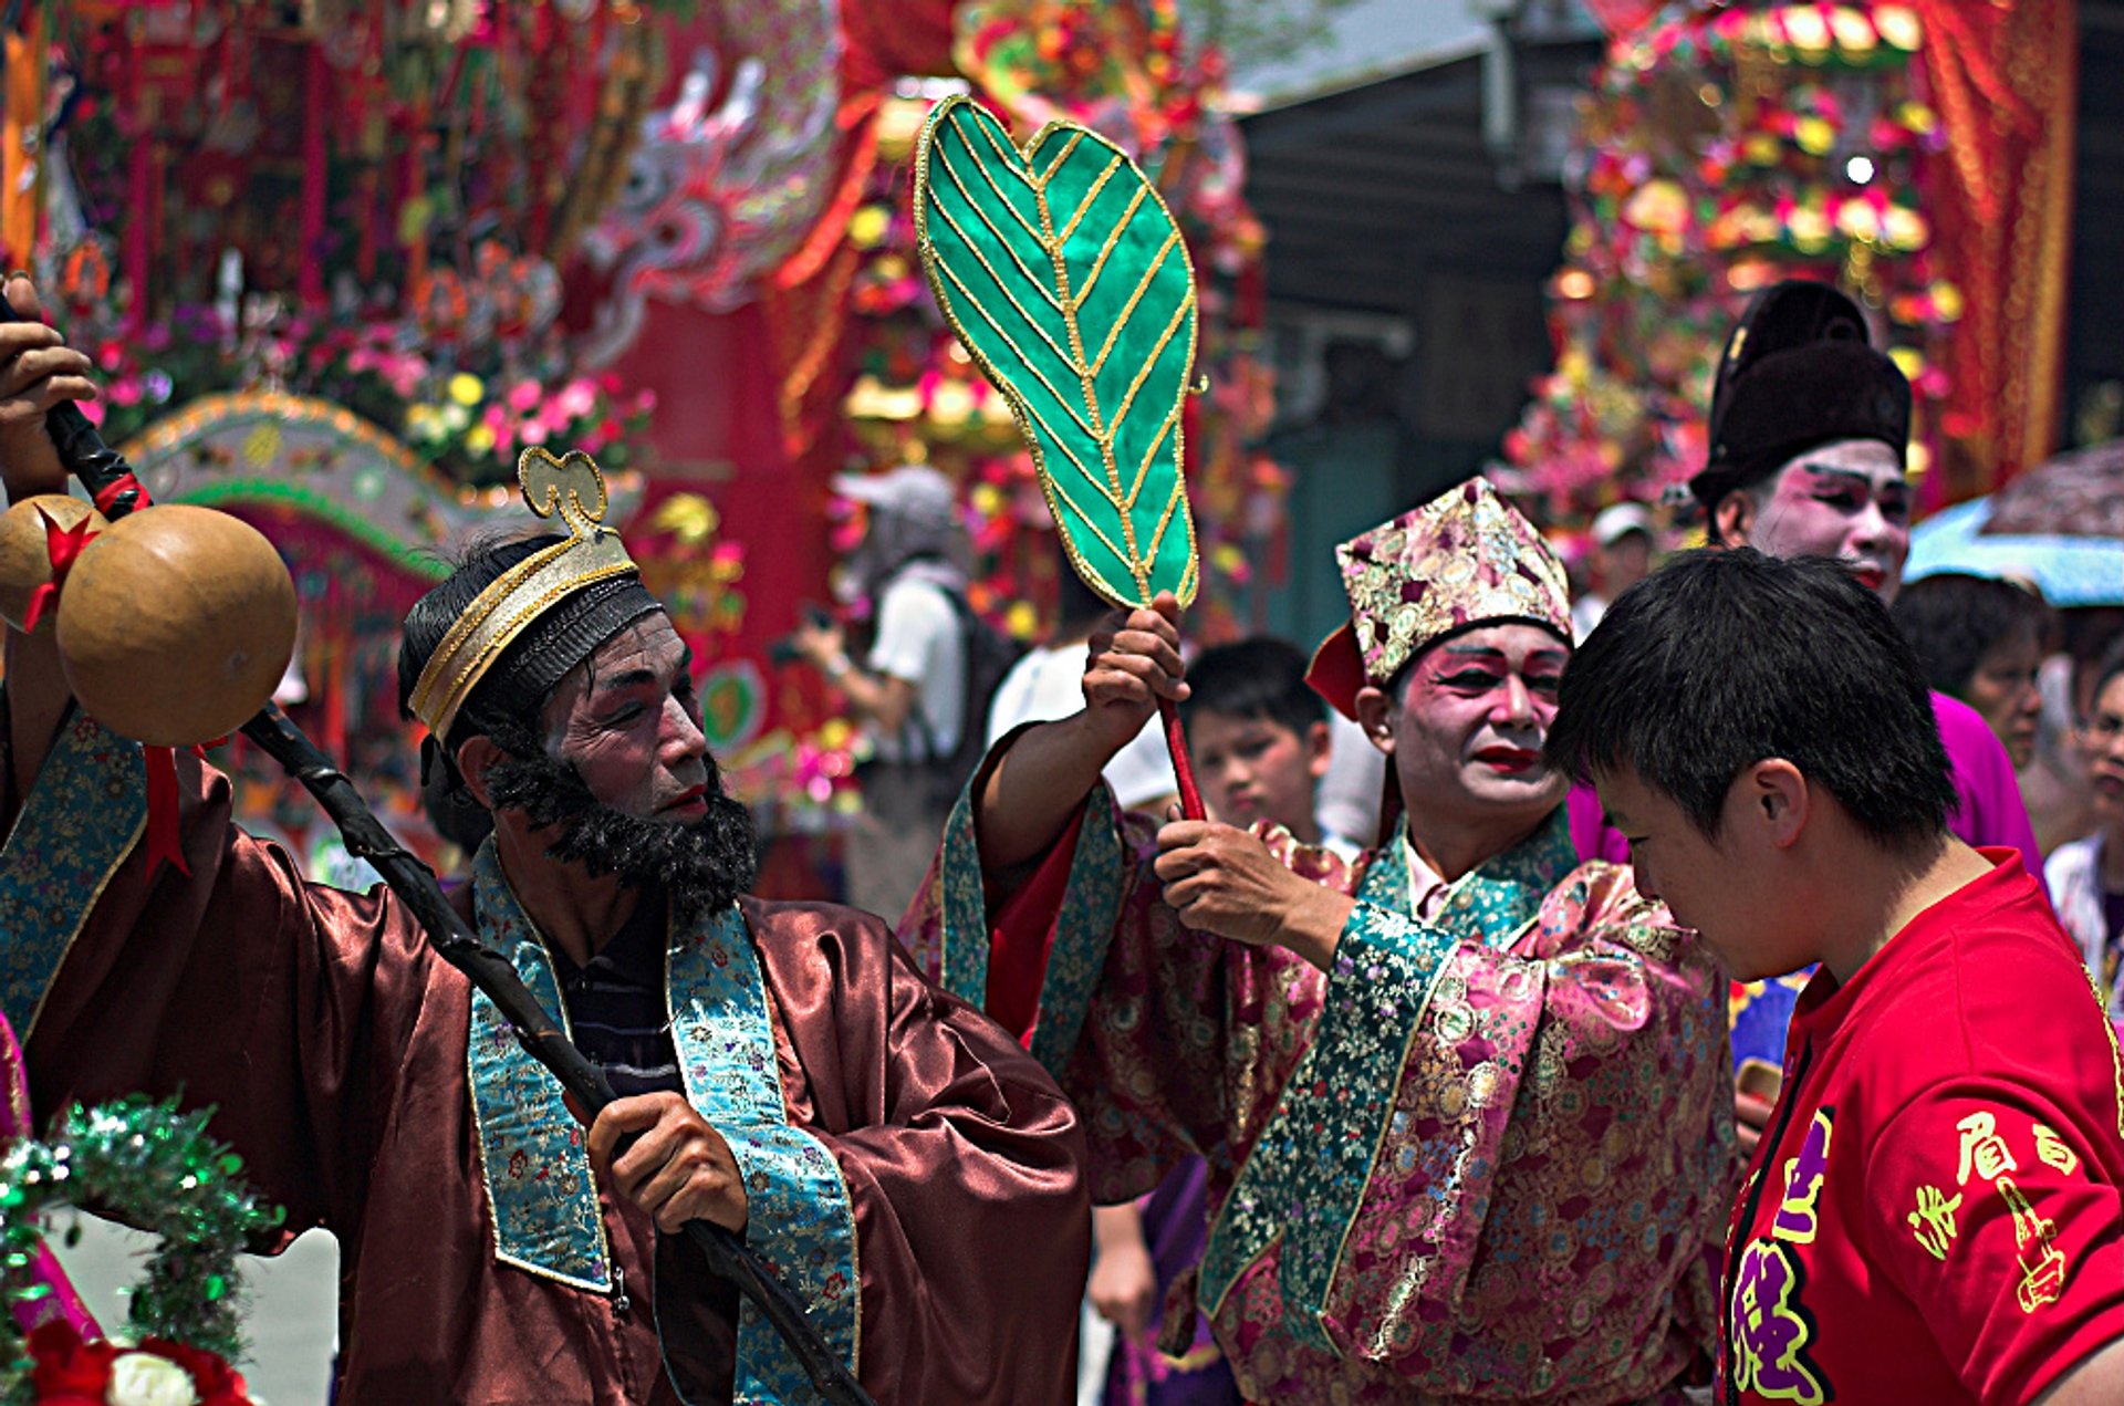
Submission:
[[[1570,648],[1538,624],[1489,624],[1419,654],[1376,737],[1410,813],[1540,820],[1563,799],[1542,762]]]

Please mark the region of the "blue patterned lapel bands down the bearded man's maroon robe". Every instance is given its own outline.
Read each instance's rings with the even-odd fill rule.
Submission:
[[[480,937],[506,951],[548,1011],[567,1017],[546,945],[510,892],[495,845],[474,862]],[[860,1351],[856,1215],[839,1162],[790,1126],[775,1026],[752,932],[735,905],[665,949],[671,1043],[686,1098],[731,1147],[746,1179],[750,1245],[805,1300],[807,1317],[854,1372]],[[610,1245],[582,1128],[559,1081],[474,992],[467,1043],[480,1166],[495,1211],[495,1257],[582,1289],[610,1291]],[[809,1402],[809,1378],[773,1327],[743,1304],[737,1402]]]

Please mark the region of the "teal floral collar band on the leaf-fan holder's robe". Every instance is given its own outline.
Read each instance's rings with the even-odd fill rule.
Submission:
[[[1421,922],[1410,913],[1406,818],[1372,852],[1313,1043],[1211,1225],[1196,1296],[1211,1317],[1281,1238],[1283,1325],[1334,1351],[1321,1313],[1446,958],[1463,941],[1510,945],[1576,862],[1559,805],[1529,839],[1449,886],[1438,918]]]

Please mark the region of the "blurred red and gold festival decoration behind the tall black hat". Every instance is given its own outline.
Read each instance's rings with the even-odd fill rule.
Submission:
[[[1875,314],[1916,389],[1922,501],[2043,459],[2071,217],[2073,13],[2031,4],[1599,4],[1555,372],[1504,476],[1551,520],[1703,463],[1725,331],[1784,276]]]

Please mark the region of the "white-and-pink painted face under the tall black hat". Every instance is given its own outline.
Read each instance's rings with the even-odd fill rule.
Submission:
[[[1835,556],[1895,601],[1909,556],[1909,482],[1892,448],[1837,440],[1793,459],[1759,493],[1748,546],[1765,556]]]

